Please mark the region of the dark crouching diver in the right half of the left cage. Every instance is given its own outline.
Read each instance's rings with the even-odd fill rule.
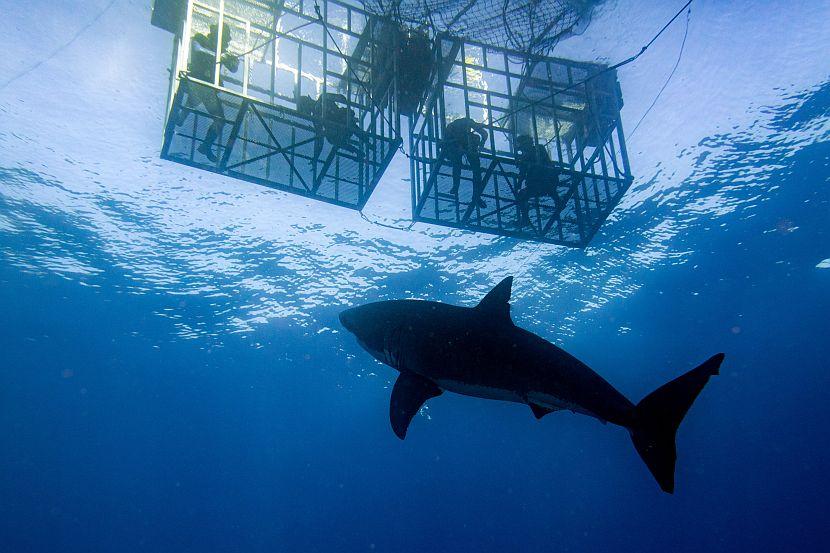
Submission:
[[[362,137],[364,133],[357,124],[354,111],[348,106],[346,97],[337,93],[321,94],[317,100],[303,96],[297,102],[297,111],[310,117],[314,125],[314,157],[309,162],[311,165],[320,159],[324,139],[332,148],[347,150],[362,159],[360,149],[352,144],[351,139],[353,136]]]

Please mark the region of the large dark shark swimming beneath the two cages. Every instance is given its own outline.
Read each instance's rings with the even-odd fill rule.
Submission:
[[[424,402],[444,391],[524,403],[537,419],[567,409],[627,429],[660,488],[673,493],[677,428],[724,354],[635,405],[576,357],[513,324],[512,284],[504,279],[475,307],[392,300],[340,314],[363,349],[400,372],[389,406],[395,434],[404,439]]]

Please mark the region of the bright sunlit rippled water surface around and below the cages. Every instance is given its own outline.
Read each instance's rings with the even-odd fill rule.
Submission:
[[[541,323],[555,311],[557,332],[567,335],[586,312],[633,294],[643,271],[685,263],[696,247],[690,230],[752,216],[776,193],[770,175],[786,171],[794,151],[827,140],[826,112],[807,124],[782,124],[822,93],[830,73],[826,56],[806,55],[827,34],[826,18],[818,17],[827,9],[803,9],[811,13],[788,43],[753,43],[752,56],[739,56],[747,44],[712,37],[728,25],[743,29],[735,37],[751,36],[774,13],[785,26],[795,18],[774,6],[717,18],[714,8],[696,8],[676,81],[632,139],[638,178],[580,251],[423,224],[392,230],[348,210],[159,160],[169,37],[150,27],[145,6],[120,6],[125,27],[108,15],[94,36],[0,93],[0,251],[23,270],[91,286],[115,271],[125,293],[210,298],[212,324],[188,321],[184,308],[162,314],[177,318],[183,338],[248,332],[275,319],[307,325],[321,308],[397,297],[390,277],[421,270],[434,282],[411,296],[433,297],[441,290],[433,284],[452,281],[461,292],[436,299],[465,304],[514,274],[523,316]],[[599,13],[558,54],[621,59],[664,19],[615,13],[627,16]],[[663,47],[621,72],[629,127],[674,63],[679,33],[667,33]],[[604,40],[615,34],[622,39]],[[7,40],[14,35],[0,37],[4,46]],[[102,45],[108,61],[99,65]],[[798,61],[773,73],[767,68],[776,56]],[[37,86],[47,82],[58,91]],[[408,186],[408,165],[398,156],[367,213],[407,224]]]

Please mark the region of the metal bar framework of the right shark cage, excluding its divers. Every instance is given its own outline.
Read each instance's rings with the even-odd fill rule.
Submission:
[[[480,63],[468,59],[467,49],[475,49],[481,53]],[[616,73],[602,64],[526,54],[447,34],[436,37],[434,51],[436,70],[432,77],[431,90],[422,102],[419,113],[410,118],[409,151],[413,220],[564,246],[587,246],[633,181],[620,119],[622,94]],[[496,64],[490,63],[488,55],[493,54],[501,56],[502,61]],[[512,61],[516,59],[519,61]],[[534,68],[539,66],[547,68],[546,79],[539,79],[538,76],[533,75]],[[554,80],[550,69],[553,66],[566,70],[566,81]],[[468,76],[471,71],[499,75],[504,79],[506,90],[485,90],[470,86]],[[453,72],[456,73],[456,78],[460,73],[461,82],[452,82]],[[575,78],[576,73],[584,73],[587,80],[580,82],[584,79]],[[606,81],[603,85],[605,88],[596,90],[599,87],[596,83],[591,84],[592,81],[603,79]],[[546,218],[540,214],[540,198],[534,199],[533,209],[537,212],[538,224],[531,225],[531,230],[528,231],[524,227],[511,228],[508,222],[503,221],[502,214],[514,208],[517,218],[520,217],[517,190],[510,186],[510,182],[517,184],[519,175],[515,150],[515,138],[519,134],[520,127],[518,113],[522,110],[530,111],[533,140],[538,144],[540,135],[536,123],[537,111],[541,111],[541,108],[537,109],[530,105],[518,111],[514,110],[522,103],[533,104],[535,102],[531,98],[523,98],[523,91],[534,83],[538,88],[539,81],[544,81],[550,102],[542,107],[546,107],[553,114],[554,119],[554,136],[551,140],[554,147],[549,150],[553,161],[550,166],[556,167],[564,179],[571,181],[571,184],[567,186],[567,190],[562,191],[559,198],[553,198],[552,195],[554,205],[552,209],[549,205],[547,206],[548,216]],[[444,208],[439,205],[442,198],[437,190],[437,181],[442,177],[447,177],[446,163],[439,160],[438,150],[448,122],[446,99],[448,88],[454,88],[463,95],[464,116],[470,116],[471,107],[487,114],[483,123],[488,134],[488,141],[485,142],[485,147],[480,152],[481,191],[487,190],[492,184],[495,194],[491,196],[482,194],[481,197],[486,196],[485,199],[488,202],[495,201],[496,205],[494,211],[484,215],[481,213],[482,208],[475,205],[478,196],[470,195],[469,199],[443,198],[448,204]],[[484,102],[471,100],[471,95],[476,94],[482,95]],[[603,101],[611,102],[610,111],[603,112],[607,120],[602,124],[597,121],[595,125],[598,131],[603,130],[603,132],[599,133],[599,136],[583,136],[585,130],[591,128],[590,122],[584,123],[583,121],[582,128],[576,129],[573,136],[567,139],[561,136],[560,122],[556,121],[557,114],[570,110],[573,112],[570,116],[571,123],[584,120],[586,110],[593,109],[589,109],[592,103],[600,105],[598,97],[594,97],[597,94],[607,96],[603,98]],[[558,96],[565,95],[578,96],[585,100],[581,113],[578,113],[580,110],[569,108],[564,101],[557,100]],[[494,103],[494,98],[498,99],[498,104]],[[544,102],[541,103],[544,104]],[[506,117],[507,124],[495,125],[493,113],[509,114]],[[596,120],[596,114],[594,116]],[[576,123],[572,124],[572,127],[576,128],[576,126]],[[496,135],[499,133],[503,135],[501,143],[505,144],[504,140],[507,140],[507,146],[494,148]],[[595,143],[593,146],[589,145],[591,141]],[[462,181],[470,181],[469,184],[472,185],[472,179],[468,178],[468,173],[471,171],[462,172]],[[512,199],[501,196],[499,180],[504,181],[501,183],[502,187],[508,185],[511,188]],[[557,188],[560,186],[564,186],[561,181],[557,184]],[[436,187],[434,194],[433,187]],[[557,188],[554,190],[559,196]],[[428,202],[433,203],[432,211],[425,209]],[[503,205],[505,203],[507,205]],[[591,203],[595,206],[592,207]],[[447,206],[450,209],[447,209]],[[447,215],[448,211],[454,211],[454,214],[442,216],[442,214]],[[564,231],[566,225],[562,217],[563,215],[568,217],[569,214],[572,214],[573,220],[567,221],[571,231],[566,233]],[[495,224],[481,224],[483,220],[486,221],[493,216]],[[552,232],[554,229],[556,232]]]

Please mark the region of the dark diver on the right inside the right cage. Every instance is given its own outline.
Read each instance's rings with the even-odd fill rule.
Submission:
[[[516,164],[519,166],[516,179],[518,226],[524,228],[530,224],[530,198],[550,196],[559,204],[556,186],[561,182],[562,171],[551,162],[547,149],[526,134],[516,137]]]

